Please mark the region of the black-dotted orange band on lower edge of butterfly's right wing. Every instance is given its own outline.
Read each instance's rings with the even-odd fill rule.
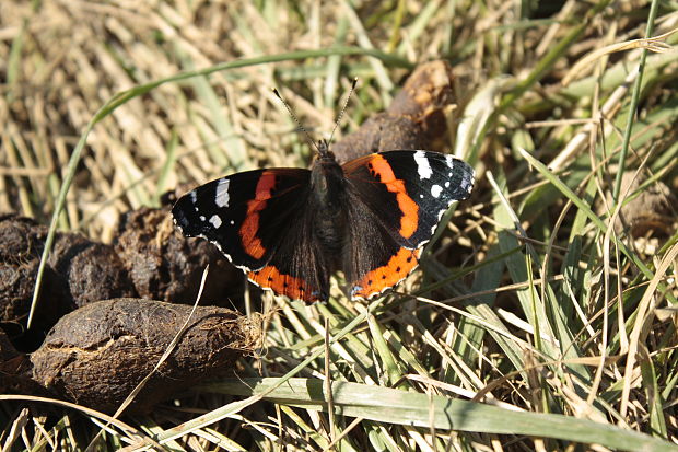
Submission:
[[[400,248],[398,253],[388,259],[388,263],[378,267],[353,286],[351,298],[369,299],[375,293],[381,293],[384,289],[394,287],[405,279],[419,264],[421,250]]]

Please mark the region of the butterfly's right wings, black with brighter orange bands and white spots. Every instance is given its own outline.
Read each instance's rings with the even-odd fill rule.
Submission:
[[[367,220],[349,224],[343,269],[351,297],[369,299],[417,267],[443,213],[470,195],[475,174],[464,161],[429,151],[374,153],[342,167],[349,218]]]

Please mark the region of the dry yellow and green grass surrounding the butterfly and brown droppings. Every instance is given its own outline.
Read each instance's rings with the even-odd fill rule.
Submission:
[[[346,134],[433,59],[456,77],[448,148],[477,170],[397,293],[270,299],[237,379],[125,418],[133,432],[113,424],[98,447],[678,450],[677,7],[0,2],[0,211],[49,223],[61,189],[58,228],[110,241],[179,183],[308,165],[271,86],[320,137],[358,77]],[[103,428],[0,409],[15,450],[84,449]]]

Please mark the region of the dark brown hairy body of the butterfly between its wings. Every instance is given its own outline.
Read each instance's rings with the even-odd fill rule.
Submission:
[[[343,170],[327,152],[320,155],[311,169],[312,209],[315,217],[314,233],[324,251],[337,256],[344,236],[346,215],[342,209],[346,199]]]

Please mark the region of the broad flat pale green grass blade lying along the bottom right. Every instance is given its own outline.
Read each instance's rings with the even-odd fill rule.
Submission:
[[[261,395],[264,399],[278,404],[326,409],[322,380],[290,379],[280,385],[279,379],[274,378],[227,379],[204,387],[232,395]],[[529,434],[623,450],[678,451],[678,445],[668,441],[612,425],[569,416],[513,412],[440,395],[334,382],[332,397],[337,414],[379,422],[426,429],[433,422],[432,426],[440,430]]]

